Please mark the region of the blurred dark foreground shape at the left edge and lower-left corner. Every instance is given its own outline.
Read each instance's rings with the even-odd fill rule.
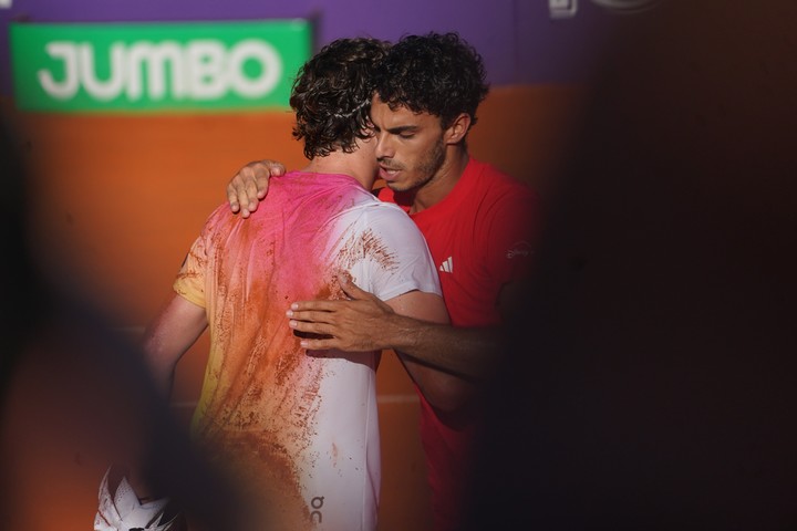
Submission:
[[[76,476],[99,465],[99,488],[103,467],[142,456],[154,488],[172,496],[196,529],[241,529],[231,518],[228,486],[189,449],[137,345],[105,308],[83,296],[84,279],[59,263],[40,263],[54,254],[41,253],[29,230],[35,179],[21,164],[23,146],[13,132],[3,124],[0,133],[2,529],[60,529],[60,511],[80,490]],[[72,449],[80,449],[75,462],[64,462]],[[93,511],[85,513],[85,529]]]

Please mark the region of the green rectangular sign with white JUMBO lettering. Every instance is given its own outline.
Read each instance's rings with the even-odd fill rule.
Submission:
[[[286,108],[306,20],[10,27],[24,111]]]

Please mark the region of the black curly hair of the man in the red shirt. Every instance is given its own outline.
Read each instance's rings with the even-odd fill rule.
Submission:
[[[407,35],[376,71],[375,90],[391,108],[439,116],[448,127],[460,113],[476,124],[489,84],[478,52],[457,33]]]

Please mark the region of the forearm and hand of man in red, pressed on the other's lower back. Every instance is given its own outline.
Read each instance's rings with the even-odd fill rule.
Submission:
[[[343,278],[340,281],[350,301],[302,301],[288,311],[292,329],[332,336],[303,340],[303,347],[349,352],[393,348],[405,360],[469,381],[483,379],[493,371],[497,330],[455,327],[420,319],[395,310]]]

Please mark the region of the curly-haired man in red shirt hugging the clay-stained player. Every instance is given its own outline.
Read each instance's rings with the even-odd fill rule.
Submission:
[[[437,266],[452,326],[397,315],[352,283],[351,301],[302,301],[288,311],[297,331],[324,334],[306,348],[393,348],[421,396],[436,531],[465,524],[479,392],[500,364],[497,334],[517,283],[527,279],[536,196],[470,157],[466,137],[487,95],[478,53],[454,33],[411,35],[377,69],[371,105],[380,199],[401,206],[424,235]],[[265,197],[268,164],[250,165],[228,185],[244,216]],[[331,336],[331,337],[330,337]]]

